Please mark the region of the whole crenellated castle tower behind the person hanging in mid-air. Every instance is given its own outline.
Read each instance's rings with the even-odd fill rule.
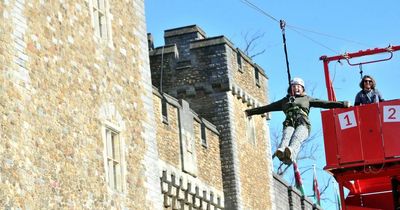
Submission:
[[[153,85],[185,99],[220,133],[226,209],[271,209],[273,177],[265,117],[244,110],[266,104],[263,69],[224,36],[207,38],[196,25],[165,31],[150,51]]]

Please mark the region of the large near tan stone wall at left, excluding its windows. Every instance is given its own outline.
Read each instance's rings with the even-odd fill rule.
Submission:
[[[94,36],[90,6],[88,0],[0,1],[0,206],[6,209],[162,205],[151,195],[161,191],[158,170],[147,167],[157,166],[158,157],[146,140],[154,129],[144,2],[112,2],[107,43]],[[125,146],[122,193],[107,187],[109,124]]]

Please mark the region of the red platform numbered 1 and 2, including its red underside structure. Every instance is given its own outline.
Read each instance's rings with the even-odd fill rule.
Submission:
[[[345,209],[394,209],[400,180],[400,99],[322,111],[325,170],[339,183]],[[350,192],[344,199],[343,187]]]

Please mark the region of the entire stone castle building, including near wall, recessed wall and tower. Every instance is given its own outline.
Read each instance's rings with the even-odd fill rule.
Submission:
[[[243,112],[268,78],[224,36],[153,48],[144,0],[0,0],[0,18],[0,208],[314,208],[273,176],[265,116]]]

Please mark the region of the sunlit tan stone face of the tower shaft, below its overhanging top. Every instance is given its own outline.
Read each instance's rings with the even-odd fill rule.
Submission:
[[[235,98],[234,107],[234,109],[244,110],[247,105]],[[254,138],[249,135],[248,129],[246,129],[248,118],[244,113],[235,113],[234,119],[234,127],[242,128],[235,129],[235,137],[241,166],[239,177],[242,188],[241,197],[245,204],[244,209],[271,208],[271,201],[265,198],[265,195],[271,195],[271,192],[273,192],[273,189],[271,189],[273,169],[267,159],[271,157],[268,136],[265,135],[266,132],[263,129],[254,129]],[[251,120],[253,120],[256,128],[265,127],[265,117],[254,116]]]

